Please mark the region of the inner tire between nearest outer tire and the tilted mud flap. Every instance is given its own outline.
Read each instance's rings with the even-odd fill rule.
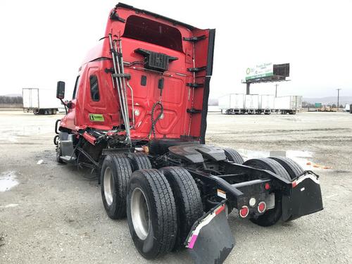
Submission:
[[[175,197],[177,210],[177,239],[175,249],[180,249],[194,222],[203,215],[201,194],[189,172],[181,167],[165,167],[161,172],[168,180]]]

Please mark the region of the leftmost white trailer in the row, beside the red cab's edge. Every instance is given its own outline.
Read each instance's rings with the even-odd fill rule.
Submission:
[[[239,114],[244,113],[244,94],[227,94],[218,99],[218,107],[221,113]]]

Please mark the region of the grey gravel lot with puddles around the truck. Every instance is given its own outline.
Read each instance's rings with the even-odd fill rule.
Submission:
[[[186,251],[139,256],[127,220],[106,215],[89,170],[56,164],[57,118],[0,111],[0,263],[190,263]],[[210,113],[207,142],[245,158],[280,151],[321,176],[319,213],[267,228],[232,213],[237,245],[226,263],[351,262],[352,115]]]

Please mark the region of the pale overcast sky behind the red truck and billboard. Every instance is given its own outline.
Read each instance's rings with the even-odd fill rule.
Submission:
[[[215,28],[210,97],[244,93],[247,67],[290,63],[278,95],[352,96],[352,1],[137,1],[125,4]],[[169,4],[170,3],[170,4]],[[0,94],[23,87],[70,94],[84,54],[103,37],[117,1],[0,1]],[[254,84],[253,94],[274,94]]]

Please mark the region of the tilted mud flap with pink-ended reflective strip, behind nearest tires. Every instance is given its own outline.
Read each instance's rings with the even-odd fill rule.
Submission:
[[[196,264],[223,263],[234,247],[225,201],[197,220],[184,242]]]

